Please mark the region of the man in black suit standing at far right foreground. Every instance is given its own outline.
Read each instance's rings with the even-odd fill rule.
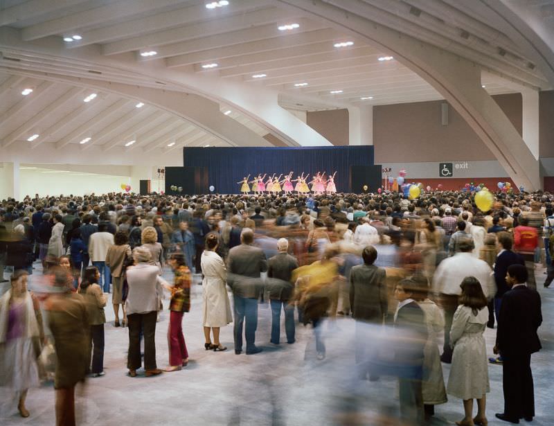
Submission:
[[[527,421],[535,416],[535,395],[531,373],[531,354],[540,350],[537,328],[542,323],[541,299],[535,290],[527,287],[527,268],[510,265],[506,292],[500,307],[497,343],[494,353],[500,353],[504,412],[495,416],[510,423]]]

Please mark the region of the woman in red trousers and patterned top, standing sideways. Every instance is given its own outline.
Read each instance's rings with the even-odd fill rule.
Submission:
[[[173,287],[166,287],[171,292],[169,305],[170,321],[168,328],[169,366],[166,371],[179,371],[188,363],[185,338],[181,321],[184,312],[190,309],[190,269],[182,253],[171,255],[169,264],[175,274]]]

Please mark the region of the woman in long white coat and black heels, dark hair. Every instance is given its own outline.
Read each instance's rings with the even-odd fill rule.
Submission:
[[[231,303],[225,283],[227,280],[227,272],[223,259],[217,250],[218,238],[215,233],[208,233],[206,236],[206,249],[202,252],[202,287],[204,293],[202,295],[202,325],[204,326],[204,337],[206,350],[226,350],[220,342],[220,328],[233,322],[231,314]],[[213,334],[213,344],[211,343],[210,330]]]

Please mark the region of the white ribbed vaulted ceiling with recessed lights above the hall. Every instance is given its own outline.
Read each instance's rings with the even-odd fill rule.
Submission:
[[[490,94],[508,93],[513,85],[551,88],[540,67],[503,33],[499,17],[483,14],[486,1],[325,2],[346,13],[350,7],[370,10],[375,21],[401,35],[473,61],[483,70],[482,84]],[[90,147],[154,153],[185,145],[228,145],[171,112],[148,103],[136,108],[136,99],[109,91],[96,91],[98,96],[84,103],[93,89],[79,85],[79,80],[67,84],[49,73],[184,91],[139,72],[141,66],[161,64],[184,75],[239,82],[245,89],[273,89],[283,107],[310,111],[442,98],[394,58],[379,60],[391,52],[379,51],[309,13],[287,8],[287,1],[229,0],[227,6],[211,9],[206,3],[211,1],[0,1],[0,27],[17,31],[22,43],[57,52],[29,55],[1,46],[0,40],[2,146],[28,143],[33,134],[39,134],[33,145],[51,143],[57,150],[91,137],[82,144],[83,152]],[[554,24],[553,3],[533,0],[528,7]],[[279,30],[287,24],[298,28]],[[73,35],[81,38],[64,41]],[[352,44],[334,46],[346,42]],[[156,54],[141,56],[150,51]],[[128,67],[87,62],[88,52]],[[204,68],[206,64],[217,66]],[[137,71],[129,71],[132,68]],[[307,85],[298,86],[301,83]],[[33,92],[22,96],[26,87]],[[260,136],[271,132],[249,114],[233,110],[229,116]],[[131,140],[136,142],[125,147]],[[175,145],[168,146],[172,142]]]

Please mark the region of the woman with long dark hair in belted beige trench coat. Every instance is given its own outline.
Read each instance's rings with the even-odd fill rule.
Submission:
[[[488,301],[481,283],[474,276],[465,277],[460,287],[460,305],[454,313],[450,330],[450,344],[454,352],[447,392],[463,399],[465,416],[456,425],[487,425],[485,394],[490,387],[483,332],[489,318]],[[477,415],[473,418],[474,399],[477,400]]]

